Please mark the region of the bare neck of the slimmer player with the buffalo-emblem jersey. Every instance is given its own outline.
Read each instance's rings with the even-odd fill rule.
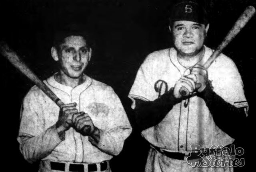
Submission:
[[[86,76],[82,75],[79,78],[70,78],[62,70],[60,70],[60,72],[54,75],[54,79],[60,84],[74,88],[84,83],[84,81],[86,80]]]

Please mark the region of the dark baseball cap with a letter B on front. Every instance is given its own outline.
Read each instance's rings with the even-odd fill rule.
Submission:
[[[208,24],[207,12],[197,1],[181,0],[171,8],[170,23],[178,20],[188,20],[201,24]]]

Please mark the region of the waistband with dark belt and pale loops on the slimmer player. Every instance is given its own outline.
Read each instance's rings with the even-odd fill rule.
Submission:
[[[110,168],[109,161],[100,163],[76,163],[72,161],[50,161],[40,162],[42,171],[58,170],[63,172],[103,172]]]

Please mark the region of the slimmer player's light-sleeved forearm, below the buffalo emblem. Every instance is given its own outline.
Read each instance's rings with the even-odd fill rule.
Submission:
[[[122,151],[125,139],[131,132],[130,126],[120,126],[110,131],[98,129],[97,136],[89,136],[89,141],[102,152],[118,155]]]

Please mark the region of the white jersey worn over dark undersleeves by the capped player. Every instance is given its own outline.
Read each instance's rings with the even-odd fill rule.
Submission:
[[[198,63],[200,65],[203,65],[213,52],[206,46],[204,48],[204,57]],[[177,51],[174,48],[151,53],[140,66],[130,90],[129,98],[133,100],[132,108],[136,107],[134,98],[154,101],[174,87],[181,76],[189,73],[189,69],[178,62]],[[221,54],[208,68],[208,78],[212,81],[216,94],[237,108],[244,107],[248,110],[240,74],[230,58]],[[204,100],[198,96],[174,105],[158,125],[142,131],[142,136],[155,147],[181,153],[190,152],[190,145],[193,144],[210,147],[211,145],[226,146],[234,142],[233,138],[214,123]],[[169,164],[163,159],[161,159],[162,162],[158,162],[157,157],[160,158],[160,156],[155,154],[149,154],[148,165],[154,164],[154,161],[162,165]],[[151,168],[152,171],[156,169],[156,167]]]

